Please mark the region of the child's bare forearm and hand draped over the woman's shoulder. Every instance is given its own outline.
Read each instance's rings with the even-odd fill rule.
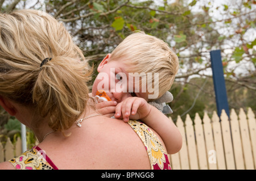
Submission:
[[[182,137],[176,125],[142,98],[127,98],[117,104],[115,117],[123,117],[123,121],[129,121],[129,119],[143,121],[163,139],[168,154],[175,154],[181,149]]]

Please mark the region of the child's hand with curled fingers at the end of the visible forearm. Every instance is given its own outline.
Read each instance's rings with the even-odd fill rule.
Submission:
[[[143,120],[151,111],[151,106],[143,98],[130,97],[118,103],[115,107],[115,118],[127,122],[132,120]]]

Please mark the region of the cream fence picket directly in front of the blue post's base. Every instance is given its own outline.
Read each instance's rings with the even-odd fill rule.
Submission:
[[[235,162],[234,162],[232,138],[230,133],[229,117],[228,115],[226,115],[225,110],[222,110],[221,112],[221,130],[222,130],[222,136],[223,136],[223,142],[224,142],[226,167],[228,170],[236,169]]]

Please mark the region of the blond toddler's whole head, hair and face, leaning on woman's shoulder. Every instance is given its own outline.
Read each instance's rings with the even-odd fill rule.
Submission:
[[[107,93],[110,98],[114,97],[114,92],[118,92],[117,88],[122,87],[122,92],[125,90],[127,95],[136,94],[143,98],[148,95],[146,100],[151,101],[170,90],[178,68],[179,60],[167,43],[154,36],[146,35],[144,32],[135,32],[127,36],[111,54],[102,60],[98,72],[110,75],[114,71],[112,74],[115,77],[115,85],[118,84],[120,78],[123,82],[126,78],[127,82],[131,82],[131,79],[133,81],[133,87],[129,83],[120,86],[120,82],[119,86],[110,85],[110,93]],[[104,77],[102,75],[99,74],[97,78]],[[109,82],[111,83],[111,78]],[[93,92],[97,91],[98,83],[94,83]],[[104,90],[108,92],[107,89]]]

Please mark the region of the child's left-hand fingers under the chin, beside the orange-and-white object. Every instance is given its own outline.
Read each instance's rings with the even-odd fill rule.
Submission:
[[[96,111],[106,117],[112,117],[115,114],[115,106],[117,106],[116,101],[104,101],[96,104]]]

